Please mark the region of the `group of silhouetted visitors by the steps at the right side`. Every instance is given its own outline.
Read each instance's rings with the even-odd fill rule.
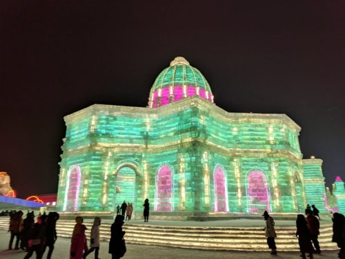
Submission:
[[[312,209],[313,208],[313,209]],[[303,214],[297,215],[296,220],[296,237],[298,238],[299,251],[301,251],[301,257],[306,258],[308,253],[309,258],[313,258],[313,254],[321,253],[319,246],[319,210],[315,205],[309,206],[307,204],[306,217]],[[268,248],[271,249],[272,255],[277,255],[277,247],[275,244],[275,221],[268,214],[267,211],[263,214],[264,220],[266,221],[266,227],[264,228],[265,236],[267,238]],[[340,251],[338,253],[339,258],[345,258],[345,218],[340,213],[333,214],[333,238],[332,242],[336,242]]]

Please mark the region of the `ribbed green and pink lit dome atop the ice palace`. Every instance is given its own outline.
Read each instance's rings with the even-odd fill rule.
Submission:
[[[184,57],[175,57],[156,78],[150,90],[148,107],[157,108],[194,95],[213,102],[213,94],[204,75],[190,66]]]

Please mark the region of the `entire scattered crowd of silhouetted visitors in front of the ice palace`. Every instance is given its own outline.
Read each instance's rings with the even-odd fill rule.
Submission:
[[[148,215],[150,204],[148,199],[144,202],[144,222],[148,222]],[[313,209],[312,209],[313,208]],[[110,242],[108,253],[112,255],[112,259],[119,259],[126,253],[126,244],[124,240],[125,231],[122,231],[122,225],[126,220],[130,220],[132,216],[133,207],[131,203],[125,201],[121,207],[117,205],[117,215],[115,221],[112,223],[110,231]],[[319,211],[312,205],[307,205],[305,210],[306,216],[303,214],[297,215],[296,220],[296,237],[298,238],[299,250],[301,257],[308,257],[313,259],[313,254],[321,253],[319,246]],[[23,249],[27,251],[26,258],[30,258],[35,252],[37,259],[43,257],[43,253],[48,247],[47,258],[51,258],[54,244],[57,240],[56,222],[59,220],[59,214],[50,212],[48,215],[43,213],[37,217],[37,222],[34,222],[34,212],[28,211],[26,218],[23,220],[22,211],[6,211],[3,215],[10,215],[10,243],[8,249],[12,249],[14,238],[16,238],[14,249]],[[277,255],[277,247],[275,238],[275,221],[264,211],[264,220],[266,226],[264,228],[267,244],[271,249],[272,255]],[[336,242],[340,251],[339,258],[345,258],[345,217],[341,213],[333,213],[333,238],[332,242]],[[85,259],[90,253],[95,252],[95,259],[99,259],[99,226],[101,225],[101,218],[95,217],[91,231],[90,231],[90,249],[86,241],[86,226],[83,224],[83,218],[78,216],[75,218],[76,224],[73,229],[70,259]]]

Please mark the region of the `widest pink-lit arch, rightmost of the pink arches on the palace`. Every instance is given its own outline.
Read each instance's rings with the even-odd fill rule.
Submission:
[[[249,213],[270,211],[268,185],[264,172],[254,170],[247,176],[247,201]]]

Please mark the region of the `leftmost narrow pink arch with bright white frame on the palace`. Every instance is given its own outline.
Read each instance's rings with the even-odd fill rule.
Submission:
[[[70,166],[67,172],[67,182],[63,211],[77,211],[78,198],[81,180],[81,170],[79,166]]]

